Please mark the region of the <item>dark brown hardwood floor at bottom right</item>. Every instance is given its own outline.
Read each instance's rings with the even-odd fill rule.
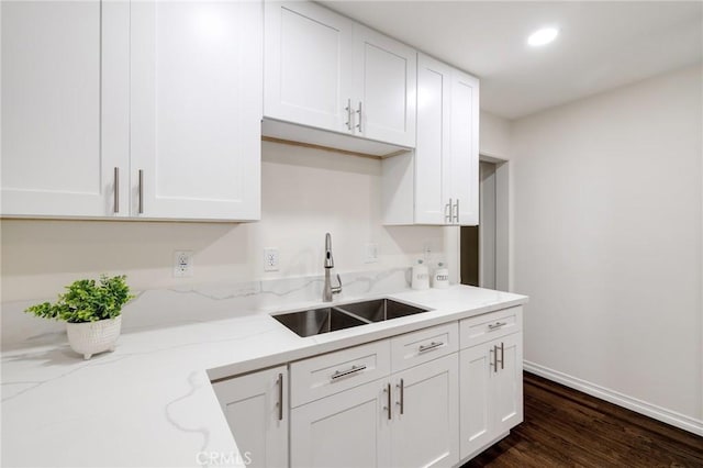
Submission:
[[[703,467],[703,437],[524,375],[525,421],[461,468]]]

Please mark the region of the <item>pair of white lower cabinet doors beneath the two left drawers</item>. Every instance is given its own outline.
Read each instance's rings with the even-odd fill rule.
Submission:
[[[459,461],[458,356],[291,411],[292,467],[450,467]]]

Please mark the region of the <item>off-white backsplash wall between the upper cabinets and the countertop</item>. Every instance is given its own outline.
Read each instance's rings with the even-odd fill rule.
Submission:
[[[100,272],[126,274],[135,290],[322,275],[325,232],[338,271],[409,267],[428,243],[443,257],[442,227],[381,225],[379,160],[263,143],[257,223],[3,220],[2,301],[53,298]],[[380,261],[365,264],[366,243]],[[264,272],[264,247],[280,271]],[[194,252],[193,278],[172,277],[176,249]]]

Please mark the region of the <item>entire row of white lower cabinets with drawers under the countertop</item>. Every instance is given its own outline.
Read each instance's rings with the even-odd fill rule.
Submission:
[[[213,386],[252,466],[453,467],[523,421],[522,358],[512,308]]]

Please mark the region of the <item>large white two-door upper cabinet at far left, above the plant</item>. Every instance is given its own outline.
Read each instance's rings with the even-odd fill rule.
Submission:
[[[2,215],[256,220],[260,2],[2,2]]]

